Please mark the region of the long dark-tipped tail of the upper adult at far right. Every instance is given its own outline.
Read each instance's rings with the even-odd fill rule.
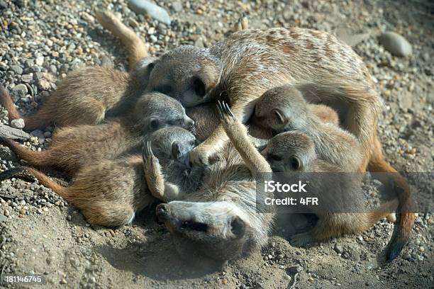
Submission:
[[[388,261],[392,261],[399,256],[400,252],[407,244],[414,220],[416,219],[413,213],[413,201],[411,199],[410,188],[404,177],[384,160],[381,145],[378,140],[376,140],[373,156],[369,160],[368,171],[390,173],[380,174],[379,181],[382,181],[384,184],[388,181],[393,181],[394,192],[399,200],[394,233],[392,234],[386,251]]]

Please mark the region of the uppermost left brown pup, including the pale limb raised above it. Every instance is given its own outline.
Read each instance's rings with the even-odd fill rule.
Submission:
[[[9,121],[23,118],[26,131],[49,125],[97,125],[107,117],[130,113],[146,86],[148,64],[155,57],[148,55],[148,45],[109,11],[96,11],[96,18],[105,28],[128,42],[130,73],[104,67],[87,67],[67,74],[57,84],[42,107],[33,115],[22,116],[11,96],[0,86],[0,104],[9,112]]]

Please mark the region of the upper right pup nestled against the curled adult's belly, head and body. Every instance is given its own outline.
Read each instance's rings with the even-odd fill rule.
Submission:
[[[262,94],[256,102],[254,118],[277,133],[304,132],[311,137],[318,157],[342,171],[365,171],[358,171],[362,163],[362,146],[356,137],[337,125],[324,123],[294,86],[279,86]]]

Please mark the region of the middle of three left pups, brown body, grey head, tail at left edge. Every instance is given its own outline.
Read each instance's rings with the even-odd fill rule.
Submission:
[[[164,94],[151,93],[141,96],[133,111],[126,116],[100,125],[57,129],[50,147],[40,152],[6,138],[0,138],[0,143],[10,147],[28,165],[53,166],[74,176],[85,165],[137,150],[143,137],[166,126],[194,130],[194,120],[187,116],[179,101]]]

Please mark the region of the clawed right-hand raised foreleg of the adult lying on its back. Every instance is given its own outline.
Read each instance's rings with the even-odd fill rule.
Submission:
[[[220,113],[221,125],[230,142],[237,149],[253,176],[271,172],[272,169],[267,160],[257,151],[248,137],[247,128],[235,118],[228,104],[218,102],[218,112]]]

